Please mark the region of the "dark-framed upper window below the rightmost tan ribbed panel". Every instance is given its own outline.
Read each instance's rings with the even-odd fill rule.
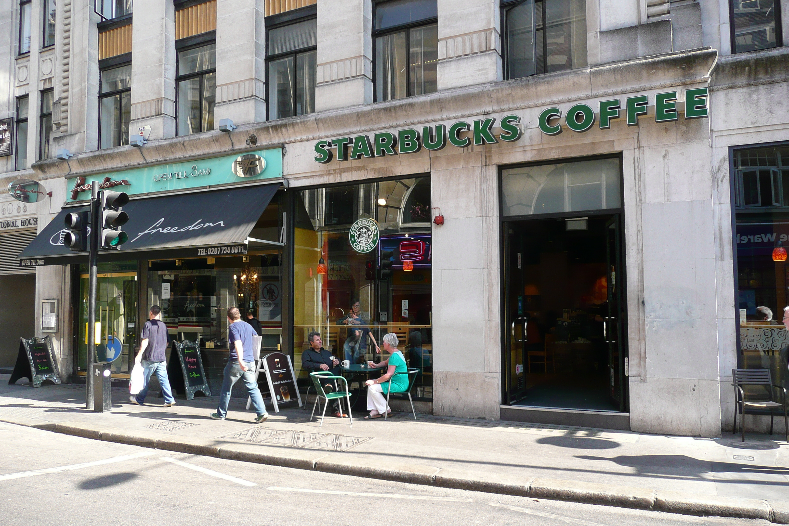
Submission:
[[[316,20],[268,30],[268,118],[315,111]]]

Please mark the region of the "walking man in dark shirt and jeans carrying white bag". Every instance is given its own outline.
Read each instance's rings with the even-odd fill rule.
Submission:
[[[143,366],[145,382],[139,393],[129,397],[129,401],[136,405],[143,405],[145,395],[148,394],[148,382],[151,381],[151,375],[153,374],[156,375],[156,379],[159,380],[159,386],[162,388],[164,407],[170,407],[175,404],[173,390],[170,388],[170,379],[167,378],[165,355],[167,350],[167,326],[161,320],[161,312],[162,308],[159,305],[151,307],[151,311],[148,312],[149,319],[145,322],[142,334],[140,334],[143,340],[140,342],[140,351],[134,358],[134,362]]]

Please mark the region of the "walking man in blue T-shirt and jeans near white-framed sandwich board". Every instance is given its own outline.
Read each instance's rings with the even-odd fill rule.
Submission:
[[[252,407],[255,408],[255,423],[265,422],[268,418],[266,405],[260,395],[260,389],[255,381],[255,356],[252,353],[252,336],[255,330],[249,323],[241,319],[241,312],[236,307],[227,309],[227,321],[230,323],[230,359],[225,366],[225,378],[222,381],[222,392],[219,394],[219,407],[216,412],[211,413],[214,420],[225,420],[227,416],[227,405],[230,404],[230,390],[233,384],[239,379],[249,392],[252,400]]]

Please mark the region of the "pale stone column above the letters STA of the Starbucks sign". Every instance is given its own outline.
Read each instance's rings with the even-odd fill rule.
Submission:
[[[372,103],[370,0],[318,2],[316,111]]]

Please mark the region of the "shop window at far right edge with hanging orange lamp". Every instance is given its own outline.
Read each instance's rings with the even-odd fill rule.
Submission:
[[[789,144],[733,157],[739,367],[770,369],[774,382],[789,387]]]

